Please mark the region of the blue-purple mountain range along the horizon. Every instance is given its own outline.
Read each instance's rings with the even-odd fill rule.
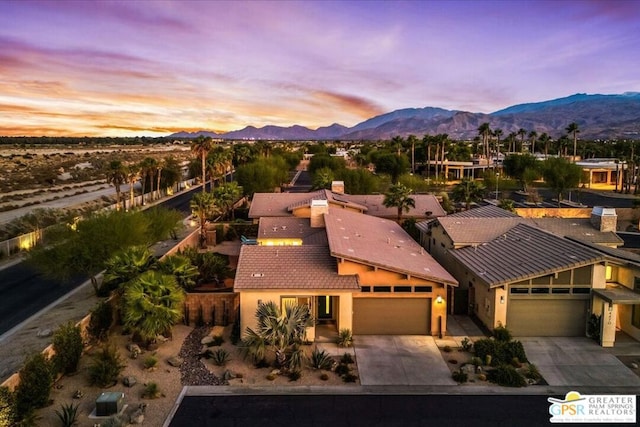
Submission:
[[[503,137],[519,129],[552,138],[566,135],[566,127],[575,122],[580,138],[592,140],[640,139],[640,92],[614,95],[579,93],[550,101],[513,105],[490,113],[472,113],[436,107],[404,108],[372,117],[353,127],[334,123],[312,130],[300,125],[290,127],[247,126],[241,130],[215,133],[201,130],[178,132],[174,138],[198,135],[233,140],[382,140],[446,133],[452,139],[472,139],[478,127],[489,123],[491,129],[502,129]]]

